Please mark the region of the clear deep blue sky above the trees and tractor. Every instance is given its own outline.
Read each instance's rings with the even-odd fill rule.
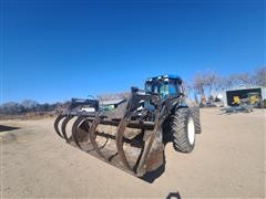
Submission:
[[[149,76],[265,65],[264,1],[1,1],[1,102],[66,101]]]

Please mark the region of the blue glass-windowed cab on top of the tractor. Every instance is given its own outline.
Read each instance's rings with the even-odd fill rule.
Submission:
[[[145,81],[145,92],[158,94],[162,98],[184,93],[182,80],[174,75],[163,75],[147,78]]]

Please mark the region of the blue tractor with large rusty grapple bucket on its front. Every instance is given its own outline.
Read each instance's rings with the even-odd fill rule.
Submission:
[[[193,150],[195,133],[201,133],[200,108],[186,98],[178,76],[163,75],[146,80],[144,90],[132,87],[113,111],[64,112],[54,128],[68,144],[143,177],[164,164],[166,137],[175,150]]]

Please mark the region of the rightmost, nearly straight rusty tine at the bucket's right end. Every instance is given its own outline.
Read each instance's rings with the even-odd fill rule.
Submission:
[[[143,176],[146,172],[147,156],[150,154],[150,150],[151,150],[151,147],[152,147],[152,144],[154,142],[156,134],[158,133],[158,130],[161,130],[162,121],[163,121],[162,117],[164,116],[164,114],[163,114],[164,109],[165,109],[165,106],[163,106],[162,111],[158,114],[156,114],[155,126],[154,126],[153,133],[150,137],[147,145],[145,146],[145,149],[143,151],[143,155],[141,157],[140,164],[136,169],[137,176]]]

